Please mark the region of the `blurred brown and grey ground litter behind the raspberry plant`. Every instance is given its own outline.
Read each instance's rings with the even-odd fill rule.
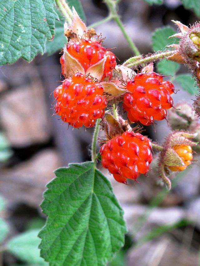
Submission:
[[[81,2],[87,25],[108,15],[102,1]],[[156,28],[170,25],[177,31],[172,19],[186,25],[198,20],[179,0],[165,0],[159,6],[150,6],[144,0],[123,0],[119,3],[119,14],[143,54],[153,52],[151,36]],[[96,32],[106,37],[106,47],[117,47],[113,52],[118,64],[133,56],[115,22],[99,25]],[[58,116],[52,116],[51,93],[63,79],[60,56],[58,51],[51,56],[38,55],[30,64],[18,60],[13,65],[0,67],[0,195],[5,202],[1,218],[9,225],[7,239],[42,227],[45,217],[39,205],[45,185],[53,179],[56,168],[90,160],[93,128],[67,129]],[[187,72],[182,66],[178,73]],[[177,83],[175,88],[180,89]],[[192,103],[194,96],[181,89],[173,99],[175,103],[180,100]],[[162,143],[169,130],[166,121],[158,121],[155,128],[146,128],[144,134]],[[174,180],[170,193],[158,184],[154,169],[149,177],[139,177],[140,184],[126,186],[114,181],[101,165],[99,168],[112,182],[129,229],[124,248],[110,265],[199,265],[198,156],[192,167]],[[0,246],[0,265],[30,265],[2,250]]]

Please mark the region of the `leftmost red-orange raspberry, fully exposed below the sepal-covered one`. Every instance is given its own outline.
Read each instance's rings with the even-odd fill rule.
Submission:
[[[103,86],[94,83],[81,73],[74,74],[54,90],[55,112],[63,122],[74,128],[93,127],[97,118],[102,118],[107,100],[102,95]]]

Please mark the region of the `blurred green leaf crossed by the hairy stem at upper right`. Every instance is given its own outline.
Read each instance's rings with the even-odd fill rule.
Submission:
[[[178,40],[176,38],[168,39],[168,37],[172,36],[173,34],[175,34],[175,31],[169,26],[158,28],[156,31],[154,31],[152,35],[153,50],[161,51],[165,49],[165,46],[177,43]],[[157,68],[158,72],[162,73],[163,75],[175,75],[180,66],[175,62],[167,61],[164,59],[161,62],[158,62]]]

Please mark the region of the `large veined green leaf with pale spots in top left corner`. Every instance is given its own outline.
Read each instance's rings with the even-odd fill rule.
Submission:
[[[30,62],[44,53],[54,36],[54,0],[4,0],[0,2],[0,65],[22,57]]]

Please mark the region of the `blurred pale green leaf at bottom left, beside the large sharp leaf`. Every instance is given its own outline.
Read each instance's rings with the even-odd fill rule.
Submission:
[[[29,230],[12,238],[7,244],[8,251],[27,263],[48,265],[40,257],[38,232],[39,230]]]

